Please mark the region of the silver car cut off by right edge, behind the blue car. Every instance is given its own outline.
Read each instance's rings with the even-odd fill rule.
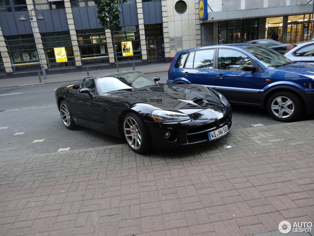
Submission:
[[[314,64],[314,40],[295,43],[284,56],[292,61]]]

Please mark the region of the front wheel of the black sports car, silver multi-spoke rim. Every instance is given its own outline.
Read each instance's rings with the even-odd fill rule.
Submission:
[[[127,113],[122,121],[122,132],[127,144],[136,153],[152,149],[152,138],[143,119],[135,113]]]

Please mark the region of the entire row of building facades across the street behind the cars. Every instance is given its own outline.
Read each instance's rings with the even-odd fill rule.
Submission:
[[[112,41],[93,0],[0,0],[0,78],[37,75],[39,56],[46,74],[59,74],[115,68],[116,60],[119,68],[167,63],[181,49],[270,38],[272,32],[295,43],[309,39],[313,18],[308,0],[208,0],[203,20],[198,0],[117,3],[121,23]]]

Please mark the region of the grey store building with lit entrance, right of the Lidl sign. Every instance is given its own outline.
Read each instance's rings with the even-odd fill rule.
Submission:
[[[208,1],[208,18],[201,21],[202,46],[270,39],[283,43],[310,39],[313,1]],[[313,30],[312,30],[313,31]]]

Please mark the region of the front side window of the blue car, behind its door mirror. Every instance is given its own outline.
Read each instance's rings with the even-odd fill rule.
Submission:
[[[250,64],[251,59],[241,52],[232,49],[218,50],[218,70],[243,70],[243,66]]]

